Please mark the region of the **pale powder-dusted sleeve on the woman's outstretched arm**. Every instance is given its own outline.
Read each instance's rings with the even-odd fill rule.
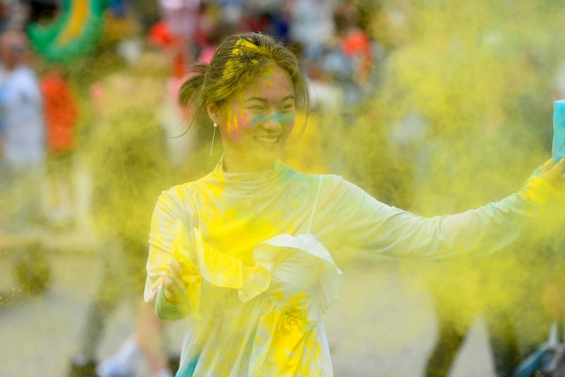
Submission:
[[[552,189],[538,179],[535,185],[527,184],[482,208],[420,217],[381,203],[340,179],[326,191],[326,208],[340,214],[334,222],[339,227],[335,232],[340,235],[338,249],[350,246],[398,258],[445,258],[504,249],[533,224],[544,207],[542,198]]]

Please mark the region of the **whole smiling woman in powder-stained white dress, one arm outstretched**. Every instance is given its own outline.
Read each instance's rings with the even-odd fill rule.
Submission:
[[[267,35],[234,35],[179,94],[220,129],[213,172],[161,194],[151,221],[145,301],[186,318],[177,376],[332,376],[321,315],[338,297],[332,252],[397,258],[497,251],[552,210],[564,225],[559,175],[547,162],[520,191],[457,215],[419,217],[340,176],[280,162],[309,104],[297,58]]]

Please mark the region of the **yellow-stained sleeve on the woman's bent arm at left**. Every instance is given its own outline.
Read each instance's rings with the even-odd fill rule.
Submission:
[[[160,304],[160,309],[165,308],[167,302],[160,298],[160,287],[165,277],[167,266],[173,258],[173,239],[179,222],[192,227],[194,225],[194,211],[187,203],[181,203],[181,198],[186,198],[182,186],[175,186],[169,191],[161,193],[153,210],[149,234],[149,255],[147,260],[147,280],[143,298],[148,304]],[[188,207],[188,208],[187,208]],[[188,242],[187,244],[190,244]],[[159,299],[160,298],[160,299]],[[164,302],[163,302],[164,301]],[[185,314],[180,308],[169,308],[177,312],[176,317]],[[186,314],[185,314],[186,315]]]

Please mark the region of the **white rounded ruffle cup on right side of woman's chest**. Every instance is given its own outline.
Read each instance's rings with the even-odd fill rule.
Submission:
[[[255,247],[254,260],[270,273],[268,298],[291,316],[318,321],[338,299],[342,272],[312,234],[278,234]]]

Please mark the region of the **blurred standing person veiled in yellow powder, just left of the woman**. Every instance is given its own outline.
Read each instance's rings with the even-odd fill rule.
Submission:
[[[95,108],[100,119],[85,148],[103,269],[69,376],[134,376],[140,351],[151,376],[171,376],[162,323],[141,300],[150,203],[172,179],[165,133],[155,111],[155,104],[166,95],[166,67],[143,53],[133,66],[115,71],[97,85]],[[99,364],[97,349],[106,325],[124,302],[136,309],[133,333],[114,357]]]

